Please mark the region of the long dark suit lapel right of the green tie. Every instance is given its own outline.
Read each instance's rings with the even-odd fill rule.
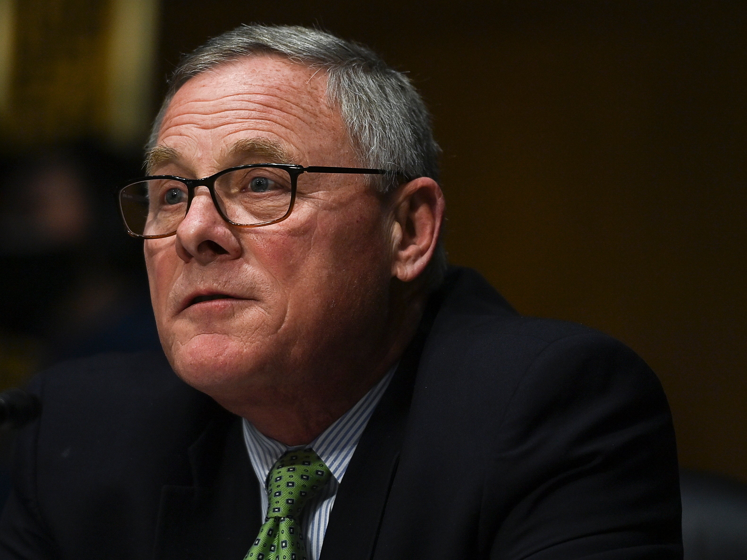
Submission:
[[[373,556],[397,473],[418,362],[440,299],[431,299],[418,334],[400,359],[353,453],[329,514],[320,560],[368,560]]]

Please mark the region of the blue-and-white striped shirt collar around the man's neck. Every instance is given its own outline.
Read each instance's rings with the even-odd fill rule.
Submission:
[[[347,470],[347,465],[350,464],[350,458],[353,457],[363,430],[389,386],[395,370],[397,370],[397,364],[394,364],[386,375],[353,405],[353,408],[335,420],[308,445],[289,447],[281,444],[259,432],[249,420],[244,418],[244,444],[247,446],[249,459],[252,461],[257,479],[264,482],[273,465],[285,452],[311,448],[332,471],[335,480],[342,482],[342,477]]]

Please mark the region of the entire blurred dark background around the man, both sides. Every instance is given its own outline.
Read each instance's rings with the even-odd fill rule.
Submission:
[[[179,56],[318,25],[409,72],[450,261],[593,326],[669,396],[681,464],[747,481],[747,3],[0,0],[0,383],[156,346],[111,190]]]

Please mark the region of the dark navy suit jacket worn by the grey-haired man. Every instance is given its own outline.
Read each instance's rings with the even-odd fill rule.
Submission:
[[[61,364],[32,388],[0,559],[241,560],[261,523],[238,417],[162,355]],[[452,270],[365,429],[322,560],[681,558],[657,378],[583,326],[521,317]]]

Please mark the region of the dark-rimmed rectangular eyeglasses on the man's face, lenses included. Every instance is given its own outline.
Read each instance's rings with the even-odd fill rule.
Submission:
[[[185,219],[196,187],[208,187],[223,220],[240,228],[258,228],[282,222],[291,215],[299,177],[303,173],[403,177],[400,172],[385,169],[293,164],[241,165],[202,179],[152,175],[131,181],[118,190],[120,214],[132,237],[169,237],[176,234],[176,229]]]

